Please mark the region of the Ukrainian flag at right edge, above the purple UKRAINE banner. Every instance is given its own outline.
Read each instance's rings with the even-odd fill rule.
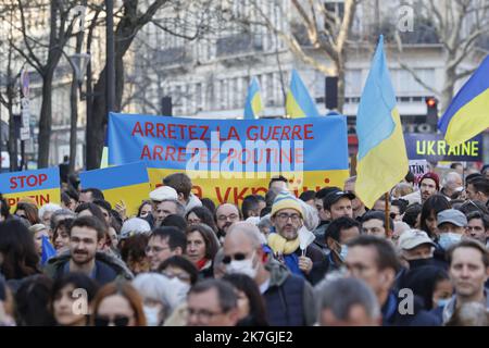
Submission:
[[[489,127],[489,55],[453,98],[438,128],[450,146],[468,140]]]

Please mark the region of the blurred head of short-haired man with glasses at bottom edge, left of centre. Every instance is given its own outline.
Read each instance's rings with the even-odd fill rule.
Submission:
[[[198,282],[187,299],[188,326],[235,326],[238,298],[230,284],[221,279]]]

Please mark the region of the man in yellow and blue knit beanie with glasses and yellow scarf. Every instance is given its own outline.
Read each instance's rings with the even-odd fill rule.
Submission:
[[[274,256],[290,272],[308,278],[313,264],[323,261],[324,254],[314,244],[310,244],[304,251],[301,250],[299,229],[303,226],[303,217],[299,200],[290,192],[279,192],[271,212],[275,232],[268,235],[267,241]]]

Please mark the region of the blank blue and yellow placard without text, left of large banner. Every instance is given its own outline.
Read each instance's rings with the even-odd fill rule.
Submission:
[[[149,199],[150,184],[145,162],[82,172],[79,179],[82,188],[102,190],[112,207],[123,201],[127,216],[136,215],[141,202]]]

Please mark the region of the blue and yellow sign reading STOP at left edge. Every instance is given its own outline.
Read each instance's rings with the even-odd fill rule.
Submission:
[[[0,192],[5,197],[11,212],[18,200],[25,197],[34,199],[37,207],[61,201],[60,169],[49,167],[0,174]]]

